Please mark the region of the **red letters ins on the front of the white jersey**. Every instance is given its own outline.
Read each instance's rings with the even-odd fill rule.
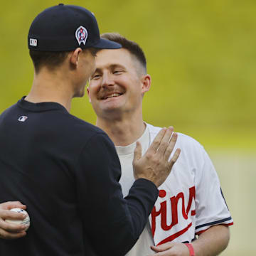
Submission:
[[[164,198],[166,196],[166,191],[161,190],[159,191],[159,196],[161,198]],[[170,198],[171,202],[171,225],[167,224],[167,207],[166,203],[167,201],[160,203],[160,209],[156,210],[156,206],[154,206],[152,212],[151,212],[151,231],[152,235],[154,237],[154,233],[156,231],[156,217],[161,215],[161,228],[163,230],[171,230],[171,228],[178,224],[178,200],[181,199],[181,210],[182,215],[185,220],[188,219],[188,213],[191,209],[192,201],[196,198],[196,188],[195,186],[189,188],[189,198],[188,198],[188,206],[185,210],[185,198],[183,192],[178,193],[177,196],[173,196]],[[196,215],[196,210],[191,210],[191,216]]]

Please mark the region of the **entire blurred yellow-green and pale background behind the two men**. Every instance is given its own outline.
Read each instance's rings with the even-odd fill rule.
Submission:
[[[144,119],[173,125],[205,146],[235,220],[222,255],[255,255],[256,1],[62,2],[93,11],[101,33],[119,32],[142,46],[152,77]],[[28,28],[58,3],[1,2],[0,112],[28,93]],[[95,123],[87,96],[75,99],[71,112]]]

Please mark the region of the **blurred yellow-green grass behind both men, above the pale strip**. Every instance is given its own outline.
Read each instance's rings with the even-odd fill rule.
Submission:
[[[28,28],[38,12],[53,4],[50,0],[2,3],[0,112],[31,87]],[[203,125],[204,131],[216,124],[227,132],[238,126],[245,132],[256,129],[256,1],[64,4],[87,7],[95,13],[101,33],[117,31],[142,46],[152,76],[151,90],[144,98],[144,117],[149,122],[171,122],[185,133],[188,126]],[[94,120],[84,104],[77,101],[73,114]]]

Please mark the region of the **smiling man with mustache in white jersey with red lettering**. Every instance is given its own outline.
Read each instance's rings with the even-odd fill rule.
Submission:
[[[144,153],[160,128],[146,124],[142,117],[142,100],[151,86],[142,49],[116,33],[102,38],[120,43],[122,48],[97,53],[96,70],[87,92],[97,114],[97,127],[107,132],[116,146],[125,196],[134,181],[136,142],[142,144]],[[151,255],[152,250],[166,256],[218,255],[228,245],[228,225],[233,220],[208,154],[201,144],[184,134],[178,134],[176,147],[181,155],[159,187],[150,225],[146,225],[129,256]]]

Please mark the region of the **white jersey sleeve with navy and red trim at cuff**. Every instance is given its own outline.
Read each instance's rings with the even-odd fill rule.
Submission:
[[[212,225],[233,225],[215,168],[200,145],[201,166],[196,174],[196,234]]]

